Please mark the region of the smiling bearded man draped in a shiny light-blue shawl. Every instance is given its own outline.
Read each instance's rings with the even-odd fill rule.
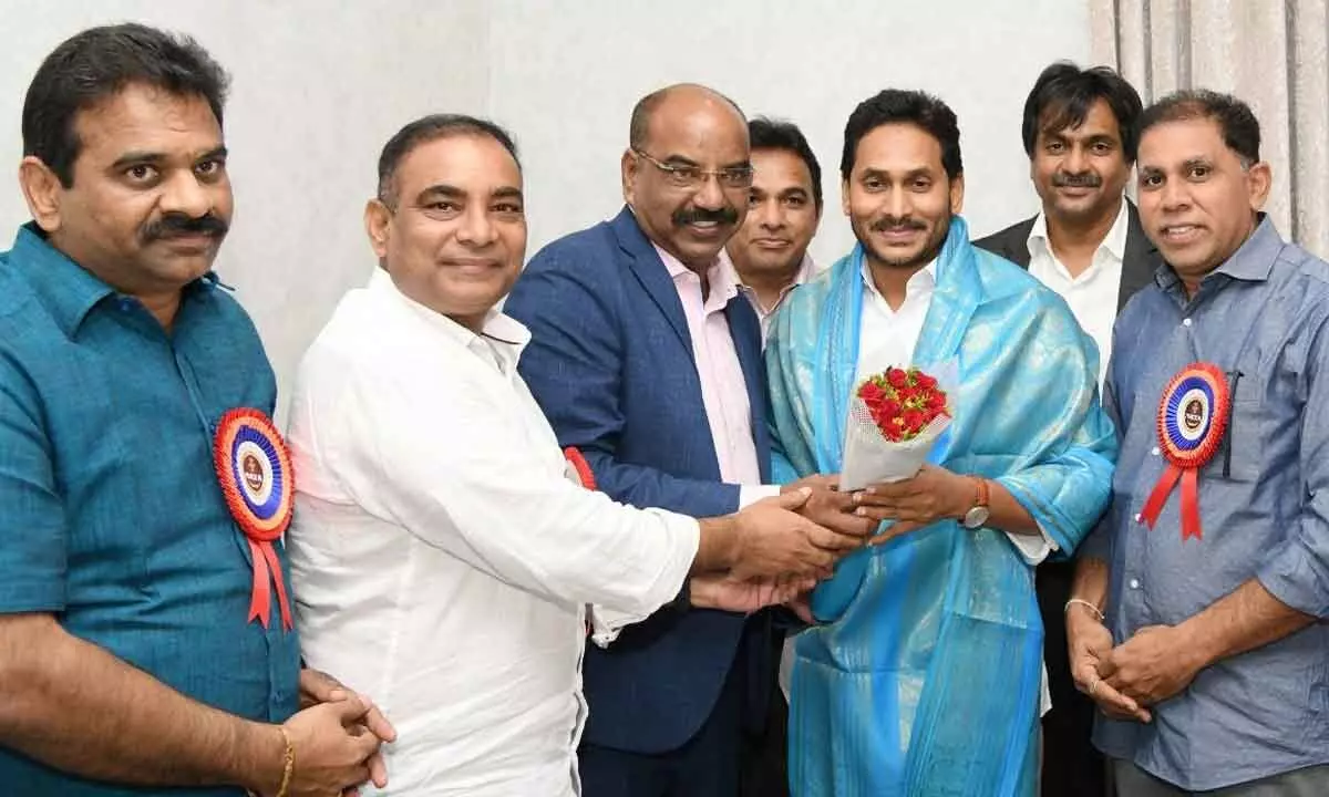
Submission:
[[[795,291],[767,348],[775,476],[840,473],[849,396],[888,365],[956,375],[913,478],[857,493],[885,521],[811,596],[789,719],[796,797],[1031,796],[1043,630],[1034,565],[1108,502],[1098,352],[1054,292],[973,247],[956,114],[885,90],[845,126],[859,244]]]

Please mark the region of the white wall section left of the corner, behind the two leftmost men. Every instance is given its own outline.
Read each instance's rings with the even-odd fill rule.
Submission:
[[[126,20],[194,36],[231,73],[235,222],[217,270],[254,315],[284,405],[304,348],[373,267],[361,211],[383,143],[437,109],[486,110],[484,0],[0,0],[0,250],[28,221],[13,175],[37,65],[77,31]]]

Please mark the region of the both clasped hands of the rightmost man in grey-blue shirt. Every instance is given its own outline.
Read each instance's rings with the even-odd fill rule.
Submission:
[[[1181,626],[1146,626],[1122,644],[1086,607],[1067,607],[1066,639],[1075,688],[1114,720],[1148,723],[1155,705],[1185,689],[1205,667]]]

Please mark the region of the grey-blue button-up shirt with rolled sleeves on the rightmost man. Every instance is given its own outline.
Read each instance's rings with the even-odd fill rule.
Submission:
[[[1159,398],[1196,360],[1235,389],[1225,444],[1199,476],[1203,539],[1183,541],[1180,485],[1152,530],[1138,514],[1166,469]],[[1329,264],[1264,219],[1193,299],[1164,266],[1116,320],[1106,404],[1122,441],[1114,498],[1080,555],[1110,562],[1118,643],[1252,578],[1329,614]],[[1099,716],[1094,740],[1193,790],[1329,762],[1329,626],[1213,664],[1150,724]]]

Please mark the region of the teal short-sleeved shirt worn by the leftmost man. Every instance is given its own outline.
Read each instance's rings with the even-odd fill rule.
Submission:
[[[275,397],[258,332],[215,276],[185,288],[167,335],[20,228],[0,255],[0,612],[54,612],[69,634],[227,712],[294,713],[296,635],[275,606],[267,630],[246,622],[249,549],[211,457],[222,413],[271,413]],[[0,749],[0,793],[242,792],[92,784]]]

